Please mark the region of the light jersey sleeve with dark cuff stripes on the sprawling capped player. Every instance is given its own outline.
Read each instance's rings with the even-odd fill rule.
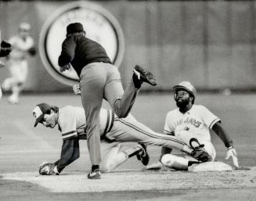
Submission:
[[[63,139],[74,138],[78,136],[77,119],[74,111],[70,108],[64,109],[59,116],[59,127]]]

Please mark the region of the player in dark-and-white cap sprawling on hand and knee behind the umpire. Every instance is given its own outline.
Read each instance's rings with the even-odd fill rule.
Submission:
[[[59,109],[49,104],[38,104],[33,115],[36,117],[34,126],[38,123],[45,127],[59,126],[63,138],[63,146],[60,159],[56,163],[47,163],[41,166],[40,174],[59,174],[64,167],[77,160],[79,157],[79,140],[86,139],[85,110],[81,107],[65,106]],[[102,170],[109,171],[124,163],[131,156],[137,156],[146,165],[149,156],[146,153],[146,145],[160,145],[182,150],[198,160],[208,160],[209,156],[204,149],[190,149],[184,142],[179,141],[171,135],[158,134],[149,127],[139,123],[128,114],[128,117],[118,118],[113,111],[101,109],[100,116],[100,138],[105,142],[112,142],[107,149],[102,150]],[[141,145],[124,148],[120,142],[139,142]]]

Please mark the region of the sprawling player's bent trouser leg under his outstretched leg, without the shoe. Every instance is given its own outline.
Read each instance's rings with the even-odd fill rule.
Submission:
[[[103,160],[100,163],[101,170],[104,172],[114,170],[132,156],[136,156],[142,152],[140,145],[126,147],[120,142],[110,144],[110,147],[104,150]]]

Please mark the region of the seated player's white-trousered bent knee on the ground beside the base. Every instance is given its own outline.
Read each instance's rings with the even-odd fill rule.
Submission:
[[[164,156],[162,156],[161,163],[163,163],[164,166],[173,168],[175,170],[188,169],[188,160],[172,154],[165,154]]]

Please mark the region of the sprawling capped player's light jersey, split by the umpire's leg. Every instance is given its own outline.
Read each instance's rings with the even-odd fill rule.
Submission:
[[[100,109],[99,124],[100,135],[113,124],[113,113],[109,109]],[[85,110],[81,107],[64,106],[59,109],[59,129],[63,139],[85,135],[86,119]]]

